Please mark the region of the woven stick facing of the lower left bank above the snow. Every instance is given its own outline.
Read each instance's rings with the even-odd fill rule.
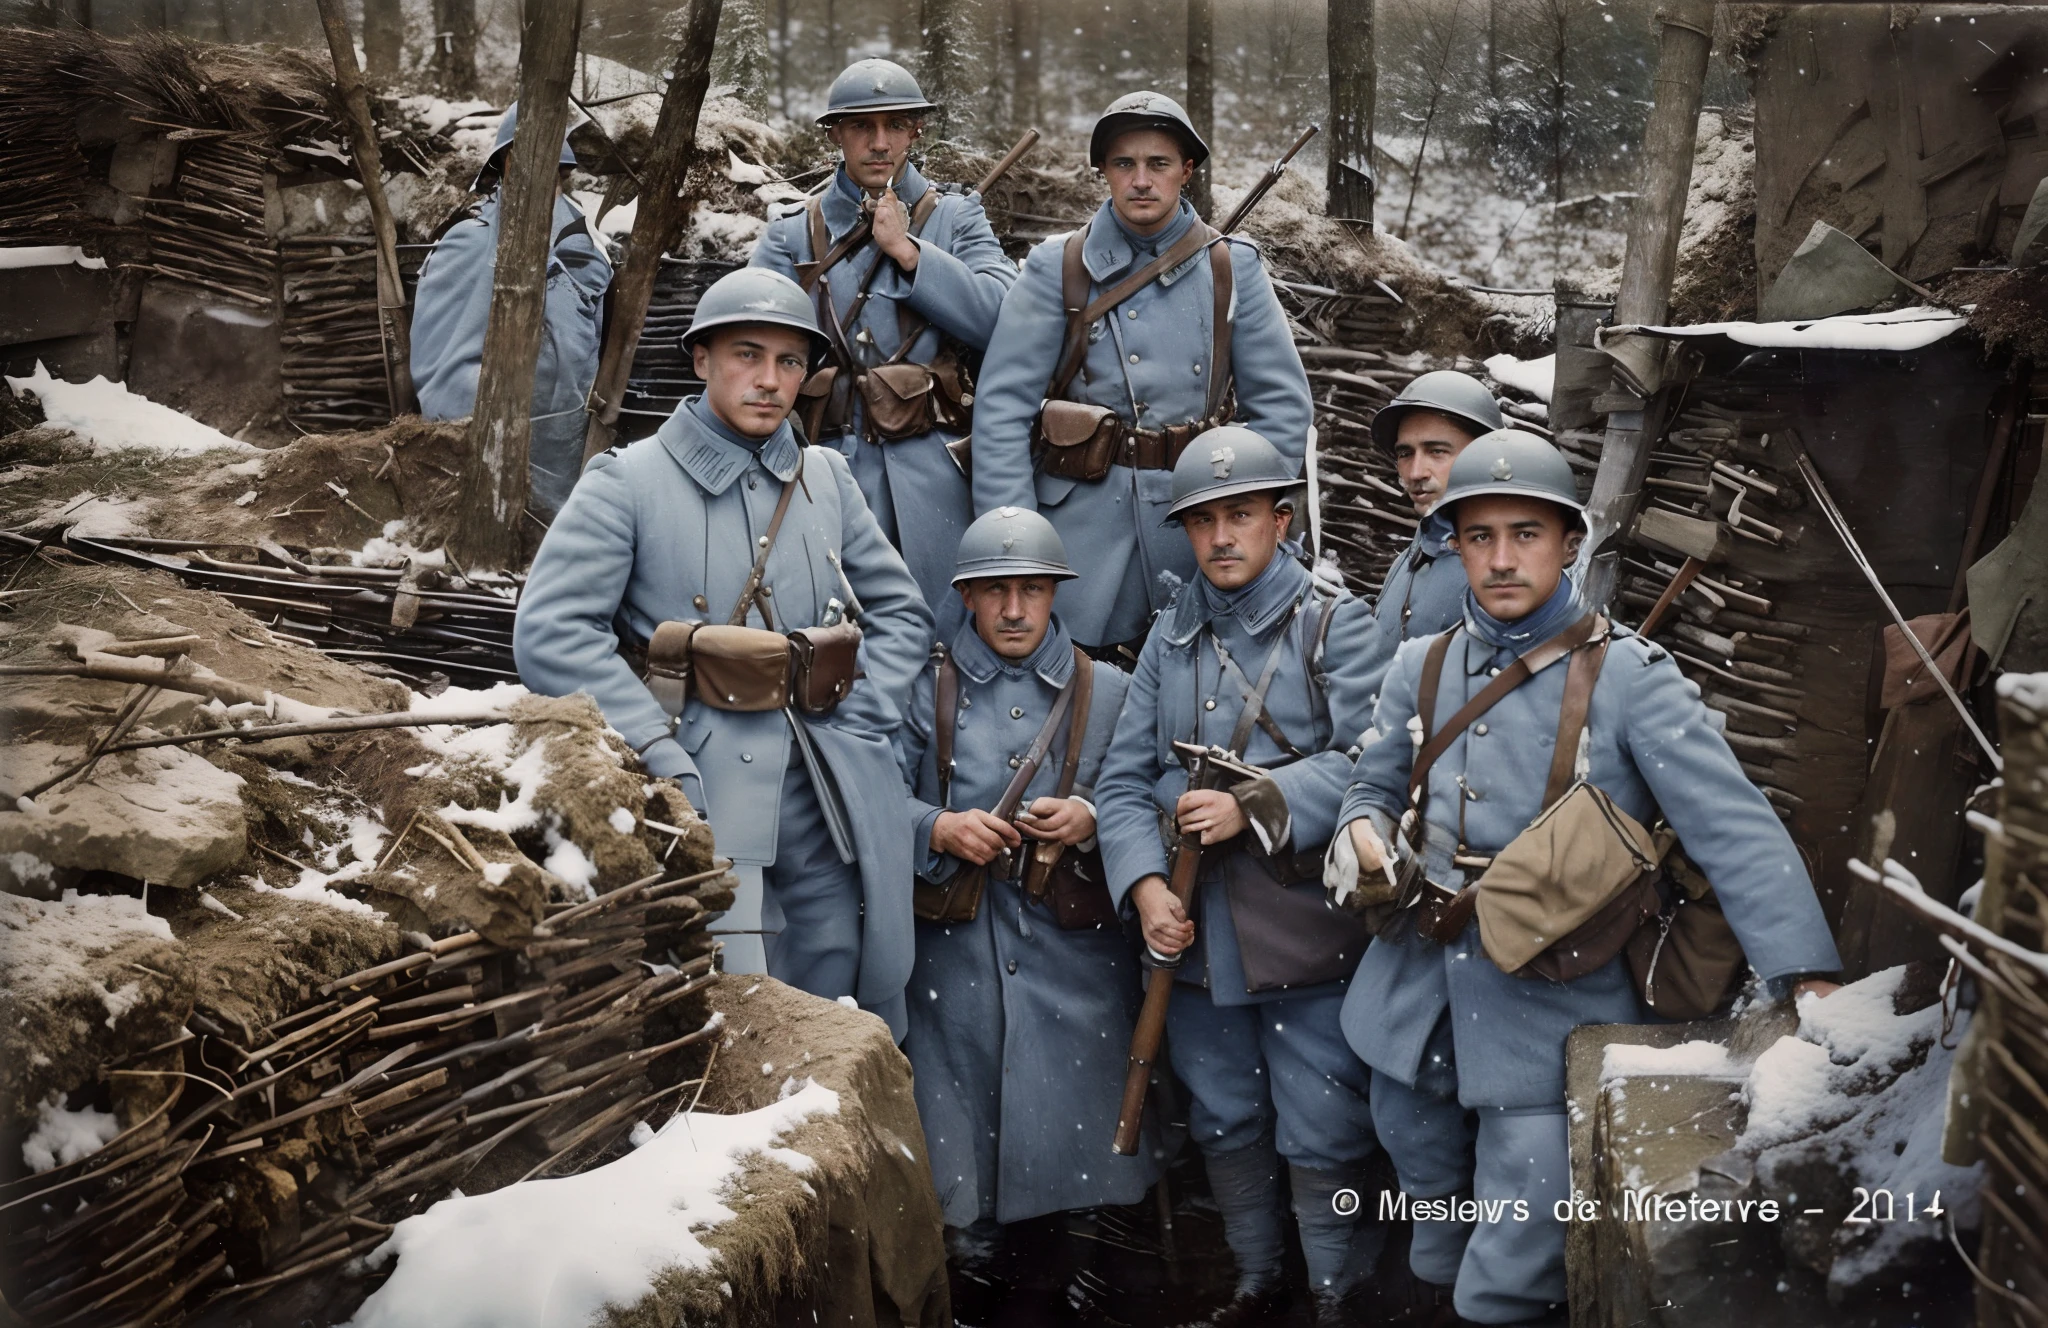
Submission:
[[[694,1107],[707,1062],[680,1053],[717,1021],[690,998],[719,978],[698,896],[723,873],[553,906],[520,945],[408,935],[264,1029],[195,1010],[104,1066],[154,1109],[0,1187],[6,1303],[33,1328],[262,1320],[299,1279],[369,1279],[350,1260],[494,1156],[485,1182],[545,1176]]]

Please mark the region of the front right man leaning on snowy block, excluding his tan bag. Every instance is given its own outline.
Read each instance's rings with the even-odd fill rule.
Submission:
[[[1563,455],[1507,428],[1475,439],[1450,469],[1442,510],[1454,523],[1450,549],[1466,574],[1464,619],[1395,656],[1352,773],[1329,881],[1339,896],[1368,898],[1389,844],[1413,853],[1407,838],[1397,842],[1395,826],[1411,803],[1409,773],[1423,736],[1436,738],[1503,672],[1524,676],[1526,662],[1534,676],[1511,684],[1483,719],[1462,721],[1456,738],[1444,732],[1450,746],[1425,769],[1421,898],[1366,951],[1350,1000],[1370,1019],[1348,1023],[1364,1033],[1354,1047],[1374,1070],[1374,1094],[1386,1080],[1425,1086],[1432,1043],[1454,1043],[1458,1101],[1477,1113],[1477,1139],[1458,1142],[1475,1150],[1470,1195],[1520,1199],[1528,1219],[1481,1223],[1462,1240],[1454,1267],[1417,1262],[1417,1273],[1454,1279],[1462,1318],[1513,1324],[1565,1299],[1565,1226],[1552,1219],[1552,1205],[1571,1197],[1565,1037],[1577,1025],[1642,1023],[1647,1014],[1620,957],[1571,982],[1501,971],[1481,947],[1477,920],[1446,904],[1450,891],[1477,879],[1544,810],[1550,785],[1577,777],[1645,826],[1663,812],[1714,883],[1749,963],[1774,988],[1825,994],[1833,984],[1819,976],[1835,971],[1839,959],[1792,838],[1743,777],[1700,689],[1661,648],[1608,625],[1579,600],[1565,570],[1579,549],[1583,506]],[[1573,650],[1602,650],[1604,666],[1589,691],[1583,738],[1573,744],[1577,758],[1565,754],[1565,779],[1556,779],[1565,680],[1575,672],[1563,660]],[[1417,719],[1417,695],[1432,691],[1436,705]],[[1438,943],[1425,930],[1448,939]],[[1374,1121],[1403,1180],[1417,1170],[1415,1152],[1427,1160],[1450,1150],[1380,1111]],[[1456,1234],[1432,1240],[1436,1258],[1460,1244],[1446,1236]]]

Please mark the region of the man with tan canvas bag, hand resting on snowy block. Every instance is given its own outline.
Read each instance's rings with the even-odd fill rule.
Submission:
[[[1708,955],[1675,945],[1671,926],[1733,932],[1706,1008],[1743,957],[1780,994],[1827,994],[1821,976],[1839,959],[1798,848],[1700,689],[1579,600],[1565,572],[1583,506],[1565,457],[1528,432],[1483,434],[1452,463],[1442,510],[1468,584],[1464,617],[1395,656],[1329,883],[1339,902],[1382,914],[1346,1031],[1372,1066],[1372,1117],[1403,1189],[1528,1207],[1522,1221],[1419,1223],[1415,1273],[1454,1283],[1464,1320],[1520,1324],[1565,1299],[1552,1205],[1571,1199],[1571,1029],[1642,1023],[1645,1000],[1669,1000],[1688,955]],[[1659,810],[1710,894],[1688,887],[1681,902],[1657,881],[1669,844],[1649,830]],[[1561,861],[1571,869],[1554,871]],[[1673,945],[1638,949],[1638,935]],[[1475,1133],[1462,1115],[1446,1129],[1442,1113],[1382,1109],[1440,1094],[1446,1066],[1432,1057],[1446,1047]]]

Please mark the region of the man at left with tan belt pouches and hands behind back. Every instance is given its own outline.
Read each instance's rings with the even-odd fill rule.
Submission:
[[[893,738],[932,613],[846,459],[788,426],[823,352],[797,283],[721,277],[684,346],[705,393],[592,459],[541,541],[512,635],[520,678],[596,697],[705,810],[739,875],[727,930],[768,932],[766,947],[729,935],[729,971],[766,961],[817,996],[858,996],[903,1037],[911,863]]]

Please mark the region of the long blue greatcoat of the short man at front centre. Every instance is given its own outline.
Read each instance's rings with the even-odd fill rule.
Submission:
[[[989,650],[969,621],[952,639],[952,660],[961,703],[950,807],[938,801],[932,746],[936,664],[918,678],[899,730],[911,779],[911,857],[922,877],[940,883],[961,861],[930,846],[938,814],[987,812],[1001,801],[1010,760],[1030,748],[1075,668],[1073,639],[1059,619],[1016,664]],[[1094,697],[1073,783],[1081,799],[1094,795],[1128,687],[1108,664],[1090,668]],[[1020,805],[1053,795],[1065,756],[1063,719]],[[946,1226],[1145,1197],[1159,1174],[1153,1150],[1118,1158],[1108,1148],[1139,998],[1139,963],[1122,930],[1061,930],[1049,906],[1024,898],[1016,875],[987,881],[973,922],[918,922],[903,1049],[915,1070]]]

